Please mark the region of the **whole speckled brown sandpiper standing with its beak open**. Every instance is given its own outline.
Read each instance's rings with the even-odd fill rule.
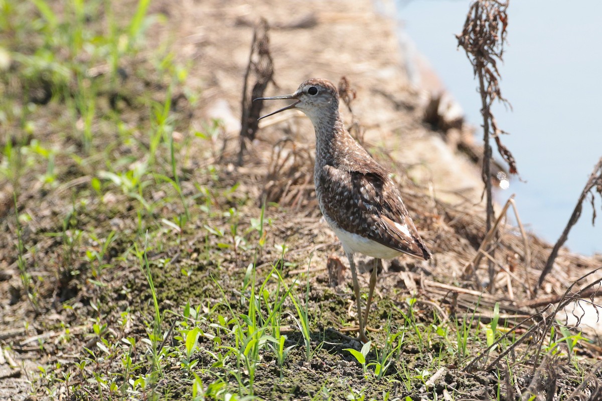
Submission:
[[[337,233],[349,258],[361,316],[353,254],[390,259],[403,253],[427,260],[430,253],[388,171],[345,129],[338,111],[337,88],[332,82],[308,79],[294,94],[265,99],[297,100],[276,112],[297,108],[314,124],[315,192],[326,222]],[[364,321],[359,318],[359,339],[363,342],[367,341],[364,326],[375,283],[376,269],[373,269],[366,316]]]

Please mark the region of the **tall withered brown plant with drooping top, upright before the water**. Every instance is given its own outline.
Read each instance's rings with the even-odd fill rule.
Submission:
[[[508,1],[476,0],[468,10],[462,33],[456,35],[458,46],[466,52],[468,60],[473,66],[474,75],[479,77],[479,92],[481,95],[481,114],[483,115],[483,182],[486,194],[486,232],[491,228],[495,219],[493,198],[491,191],[491,145],[489,137],[492,136],[497,144],[498,152],[509,165],[512,174],[518,173],[512,153],[501,143],[500,134],[504,133],[498,128],[495,117],[491,112],[491,105],[498,100],[510,105],[500,91],[500,72],[497,69],[498,61],[503,61],[504,44],[506,43],[506,28],[508,16],[506,8]],[[485,252],[493,256],[494,248],[488,247]],[[495,275],[494,263],[489,260],[489,290],[493,289]]]

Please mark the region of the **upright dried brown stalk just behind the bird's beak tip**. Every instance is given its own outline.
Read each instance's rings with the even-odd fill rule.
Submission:
[[[268,30],[270,26],[267,20],[262,18],[253,31],[253,42],[249,54],[249,64],[244,73],[243,102],[240,129],[240,150],[238,151],[238,165],[243,164],[243,154],[246,149],[246,141],[255,139],[258,128],[258,118],[263,102],[252,102],[256,97],[263,97],[265,88],[270,82],[274,82],[274,67],[272,55],[270,54],[270,37]],[[255,84],[249,96],[249,75],[253,73],[256,78]]]

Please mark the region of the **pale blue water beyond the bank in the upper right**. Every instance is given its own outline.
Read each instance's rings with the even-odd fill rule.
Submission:
[[[397,17],[418,51],[479,127],[480,97],[464,51],[456,50],[468,0],[397,0]],[[523,224],[554,243],[571,216],[583,186],[602,156],[602,2],[510,1],[509,45],[498,66],[502,95],[514,111],[493,108],[503,143],[526,183],[513,179],[501,191],[515,193]],[[477,137],[482,131],[477,130]],[[497,152],[494,146],[494,152]],[[584,203],[567,245],[583,254],[602,253],[602,208],[598,219]]]

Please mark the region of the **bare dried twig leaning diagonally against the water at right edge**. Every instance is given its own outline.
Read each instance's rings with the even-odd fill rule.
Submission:
[[[592,174],[589,176],[588,182],[585,184],[581,195],[579,195],[579,200],[577,200],[577,205],[573,210],[573,214],[571,215],[571,218],[569,218],[568,223],[566,223],[566,227],[564,231],[562,231],[562,234],[560,235],[559,239],[556,241],[556,244],[554,245],[554,248],[552,249],[550,256],[548,257],[548,260],[545,263],[544,271],[542,271],[541,276],[539,276],[537,286],[535,287],[535,289],[533,289],[534,293],[537,293],[537,290],[539,289],[539,287],[541,287],[541,284],[544,283],[545,276],[551,271],[552,266],[554,265],[554,260],[556,260],[556,256],[558,256],[558,251],[560,250],[560,247],[564,245],[566,239],[568,239],[569,231],[571,231],[571,228],[573,227],[573,225],[576,224],[576,222],[579,220],[579,217],[581,216],[583,201],[585,201],[588,195],[591,195],[592,208],[594,209],[592,225],[594,224],[596,213],[594,207],[593,191],[598,192],[600,197],[602,197],[602,158],[600,158],[598,164],[595,165],[594,171],[592,171]]]

